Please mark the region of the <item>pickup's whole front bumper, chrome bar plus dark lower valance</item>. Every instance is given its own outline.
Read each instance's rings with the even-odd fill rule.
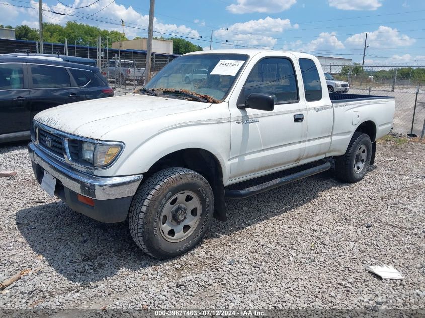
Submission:
[[[56,178],[55,195],[73,210],[102,222],[125,220],[134,193],[143,175],[98,177],[64,167],[63,163],[43,152],[34,143],[28,145],[29,156],[38,183],[44,170]],[[94,206],[81,203],[77,195],[92,198]]]

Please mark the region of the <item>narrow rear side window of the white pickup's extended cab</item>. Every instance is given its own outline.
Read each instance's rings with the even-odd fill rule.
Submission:
[[[316,64],[308,58],[300,58],[299,63],[304,83],[305,100],[318,101],[322,99],[322,84]]]

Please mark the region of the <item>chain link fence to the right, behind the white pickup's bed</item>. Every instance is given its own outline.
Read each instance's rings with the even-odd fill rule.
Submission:
[[[403,135],[422,135],[425,125],[425,67],[329,64],[322,65],[322,68],[335,80],[348,82],[348,93],[395,97],[393,131]],[[330,84],[331,81],[328,81]]]

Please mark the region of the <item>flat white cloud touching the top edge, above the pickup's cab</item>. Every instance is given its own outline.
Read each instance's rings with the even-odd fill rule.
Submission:
[[[227,11],[236,14],[243,13],[277,13],[288,10],[297,0],[237,0],[237,4],[227,6]]]

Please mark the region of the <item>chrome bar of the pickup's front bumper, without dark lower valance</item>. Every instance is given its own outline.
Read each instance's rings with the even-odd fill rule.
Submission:
[[[69,190],[96,200],[110,200],[133,196],[143,179],[142,174],[122,177],[98,177],[63,166],[34,143],[28,145],[34,164],[46,170]],[[37,175],[36,175],[37,178]]]

